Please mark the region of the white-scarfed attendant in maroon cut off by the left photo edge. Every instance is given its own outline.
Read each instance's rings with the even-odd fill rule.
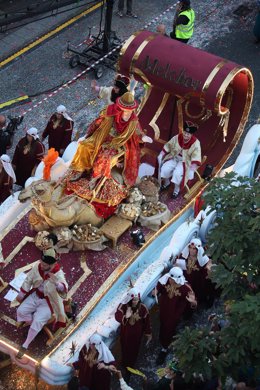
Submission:
[[[11,159],[7,154],[2,154],[0,157],[0,204],[12,194],[15,181],[16,177]]]

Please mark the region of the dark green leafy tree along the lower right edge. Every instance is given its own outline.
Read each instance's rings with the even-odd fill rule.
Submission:
[[[217,211],[207,244],[211,278],[229,300],[227,325],[185,328],[174,352],[188,380],[193,373],[237,379],[249,368],[260,378],[260,184],[232,173],[214,179],[204,199]]]

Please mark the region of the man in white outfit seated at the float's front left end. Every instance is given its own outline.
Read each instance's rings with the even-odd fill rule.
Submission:
[[[42,259],[28,273],[16,298],[21,302],[17,309],[18,325],[30,326],[17,358],[24,355],[30,343],[52,317],[55,330],[66,326],[63,300],[67,290],[68,284],[57,263],[55,250],[44,251]]]

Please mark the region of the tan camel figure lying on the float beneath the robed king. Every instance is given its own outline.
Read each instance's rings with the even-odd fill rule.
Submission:
[[[90,203],[74,194],[64,195],[62,185],[54,181],[35,181],[21,191],[18,199],[31,199],[29,220],[36,231],[73,224],[99,226],[103,221]]]

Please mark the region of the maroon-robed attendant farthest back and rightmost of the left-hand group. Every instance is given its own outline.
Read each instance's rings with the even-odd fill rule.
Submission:
[[[54,148],[60,156],[71,143],[74,122],[67,114],[66,107],[57,107],[42,134],[42,141],[48,137],[49,149]]]

